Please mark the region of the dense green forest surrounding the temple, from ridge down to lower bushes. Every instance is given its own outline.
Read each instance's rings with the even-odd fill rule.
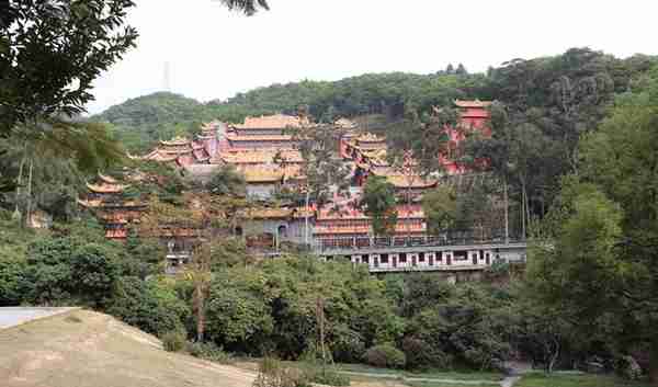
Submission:
[[[88,158],[67,158],[66,151],[42,158],[43,144],[12,137],[0,149],[12,155],[2,159],[1,177],[14,182],[0,202],[0,305],[83,305],[163,338],[201,339],[237,354],[295,360],[318,356],[326,344],[337,362],[413,369],[492,369],[522,357],[547,372],[600,363],[637,378],[639,364],[658,377],[657,66],[648,56],[617,59],[575,48],[514,59],[486,75],[463,68],[364,75],[203,104],[156,93],[91,117],[110,124],[106,144],[118,139],[137,152],[159,138],[193,133],[202,121],[236,122],[307,105],[325,122],[376,115],[381,125],[373,129],[399,141],[392,146],[407,144],[423,155],[442,138],[431,137],[444,127],[433,106],[446,112],[454,99],[496,101],[491,137],[469,137],[458,155],[491,177],[479,197],[509,193],[510,217],[531,249],[524,273],[495,266],[481,284],[377,278],[299,252],[252,262],[234,238],[207,253],[212,275],[166,276],[157,259],[161,246],[134,236],[125,244],[106,241],[75,205],[86,178],[101,167],[121,170],[125,160],[100,152],[105,148],[98,141]],[[475,162],[483,159],[488,162]],[[88,160],[98,168],[84,169]],[[159,183],[177,180],[146,193],[167,205],[194,191],[213,201],[232,195],[214,194],[170,170],[152,173],[163,175]],[[434,204],[450,197],[429,196]],[[457,209],[485,203],[449,200],[462,201]],[[24,228],[24,214],[35,208],[56,215],[50,230]],[[432,216],[445,218],[444,206],[432,208]],[[321,343],[318,299],[327,321]]]

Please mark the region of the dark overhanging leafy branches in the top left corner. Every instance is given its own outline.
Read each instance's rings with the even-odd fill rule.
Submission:
[[[136,31],[122,29],[134,5],[126,0],[10,1],[0,20],[0,135],[15,124],[82,113],[93,100],[92,81],[134,46]]]

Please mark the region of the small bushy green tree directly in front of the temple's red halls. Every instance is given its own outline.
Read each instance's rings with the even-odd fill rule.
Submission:
[[[382,177],[370,177],[359,202],[365,215],[372,218],[375,236],[389,235],[397,224],[395,186]]]

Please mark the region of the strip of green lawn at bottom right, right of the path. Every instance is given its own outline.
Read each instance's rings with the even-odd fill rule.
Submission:
[[[514,387],[650,387],[650,385],[647,382],[631,382],[608,375],[529,374],[514,384]]]

